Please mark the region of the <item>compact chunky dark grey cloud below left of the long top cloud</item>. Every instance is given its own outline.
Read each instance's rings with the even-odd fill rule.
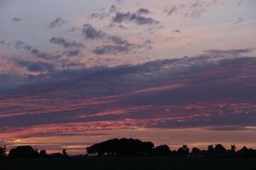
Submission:
[[[101,39],[106,36],[106,33],[103,31],[96,30],[93,26],[90,24],[85,24],[83,26],[83,35],[86,39]]]

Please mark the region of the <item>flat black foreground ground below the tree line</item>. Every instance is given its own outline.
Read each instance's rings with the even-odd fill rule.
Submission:
[[[256,158],[84,157],[0,161],[1,170],[256,170]]]

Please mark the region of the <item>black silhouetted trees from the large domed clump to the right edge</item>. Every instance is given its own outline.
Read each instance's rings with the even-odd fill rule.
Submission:
[[[86,148],[87,154],[91,156],[212,156],[212,157],[256,157],[256,150],[247,149],[244,146],[241,150],[236,150],[235,145],[231,145],[230,150],[226,150],[222,144],[209,145],[207,150],[192,148],[183,145],[177,150],[170,150],[166,144],[154,147],[152,142],[143,142],[139,139],[110,139],[99,144],[93,144]]]

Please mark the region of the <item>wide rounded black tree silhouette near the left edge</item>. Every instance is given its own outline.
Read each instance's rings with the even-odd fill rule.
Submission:
[[[37,150],[32,146],[18,146],[9,151],[9,158],[35,158],[38,157]]]

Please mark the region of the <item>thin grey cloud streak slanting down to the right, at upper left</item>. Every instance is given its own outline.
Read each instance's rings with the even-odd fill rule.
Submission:
[[[27,53],[33,54],[38,58],[42,58],[42,59],[58,59],[61,57],[61,55],[44,53],[40,51],[38,48],[33,48],[32,46],[21,41],[15,42],[15,48],[17,49],[22,48],[26,50]]]

